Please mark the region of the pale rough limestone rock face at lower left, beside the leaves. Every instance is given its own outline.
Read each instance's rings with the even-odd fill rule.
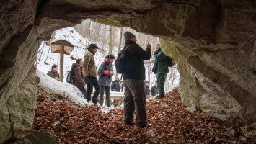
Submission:
[[[0,111],[0,143],[9,138],[17,138],[32,130],[37,104],[37,86],[39,78],[35,76],[35,67],[30,69],[19,88],[9,96]]]

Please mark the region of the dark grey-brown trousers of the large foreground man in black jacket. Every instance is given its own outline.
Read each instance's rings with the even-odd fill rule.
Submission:
[[[145,127],[146,120],[146,96],[143,80],[124,80],[124,122],[128,125],[133,123],[133,112],[136,111],[136,122],[139,127]]]

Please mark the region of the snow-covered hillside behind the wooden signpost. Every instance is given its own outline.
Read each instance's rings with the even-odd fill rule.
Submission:
[[[84,58],[84,53],[87,51],[87,46],[84,45],[86,40],[79,35],[79,33],[74,30],[73,27],[63,28],[56,31],[55,40],[62,39],[71,42],[74,45],[74,50],[71,52],[71,55],[74,58]],[[63,81],[66,81],[66,76],[71,69],[73,63],[76,63],[76,60],[72,60],[71,55],[64,55],[64,66],[63,66]],[[50,46],[46,45],[45,42],[42,42],[38,50],[37,55],[37,68],[43,73],[50,71],[50,68],[53,64],[59,66],[60,54],[51,53]],[[100,66],[100,63],[104,60],[105,55],[102,53],[96,53],[94,59],[96,61],[96,66]]]

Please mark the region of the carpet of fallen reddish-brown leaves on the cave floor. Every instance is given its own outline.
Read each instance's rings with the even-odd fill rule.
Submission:
[[[149,125],[123,125],[123,109],[104,113],[38,91],[35,130],[50,130],[60,143],[252,143],[221,120],[204,112],[188,112],[178,89],[164,99],[147,102]],[[61,100],[60,100],[61,99]]]

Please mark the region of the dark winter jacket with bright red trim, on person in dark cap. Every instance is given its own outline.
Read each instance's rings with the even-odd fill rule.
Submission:
[[[110,75],[110,71],[113,71],[112,63],[105,59],[105,62],[102,62],[100,65],[98,74],[99,74],[99,84],[101,86],[110,86],[112,81],[112,76]]]

